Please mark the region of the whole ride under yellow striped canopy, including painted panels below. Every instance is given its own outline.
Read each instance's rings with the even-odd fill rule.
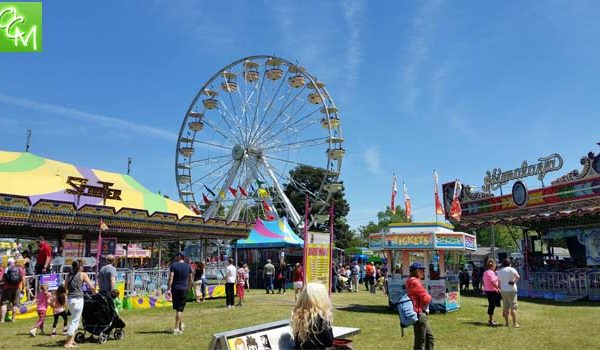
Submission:
[[[246,238],[251,229],[245,222],[205,222],[190,208],[150,192],[129,175],[29,152],[0,151],[0,237],[16,242],[43,235],[53,247],[52,273],[26,277],[30,292],[23,296],[17,318],[36,315],[34,294],[40,279],[56,288],[73,260],[83,261],[94,279],[96,257],[102,260],[108,254],[126,262],[117,275],[125,307],[170,305],[165,297],[168,269],[154,268],[170,258],[162,252],[161,242],[236,240]],[[21,250],[2,251],[10,252],[22,267]],[[3,266],[7,258],[2,257]],[[152,261],[153,268],[134,269],[138,262],[145,265],[144,260]],[[208,288],[209,297],[224,294],[223,285]]]

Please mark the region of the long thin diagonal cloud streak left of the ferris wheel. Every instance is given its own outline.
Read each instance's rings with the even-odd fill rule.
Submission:
[[[73,108],[36,102],[26,98],[13,97],[0,93],[0,103],[46,112],[63,117],[65,119],[99,125],[107,129],[116,129],[122,132],[135,133],[142,136],[150,136],[168,141],[177,140],[177,134],[167,130],[130,122],[116,117],[88,113]]]

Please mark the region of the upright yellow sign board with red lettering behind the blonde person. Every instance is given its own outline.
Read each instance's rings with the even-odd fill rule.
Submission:
[[[321,282],[330,290],[331,235],[329,232],[307,233],[304,243],[306,283]]]

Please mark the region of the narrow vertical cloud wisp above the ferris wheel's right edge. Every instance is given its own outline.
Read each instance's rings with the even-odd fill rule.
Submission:
[[[358,67],[362,62],[360,36],[363,27],[364,7],[365,3],[363,1],[343,1],[344,17],[348,25],[350,37],[346,51],[346,70],[348,71],[348,79],[351,83],[356,81]]]

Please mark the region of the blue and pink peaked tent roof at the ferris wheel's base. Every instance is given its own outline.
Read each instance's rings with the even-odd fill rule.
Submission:
[[[304,247],[304,241],[290,227],[286,218],[275,221],[257,219],[246,239],[237,242],[238,249]]]

